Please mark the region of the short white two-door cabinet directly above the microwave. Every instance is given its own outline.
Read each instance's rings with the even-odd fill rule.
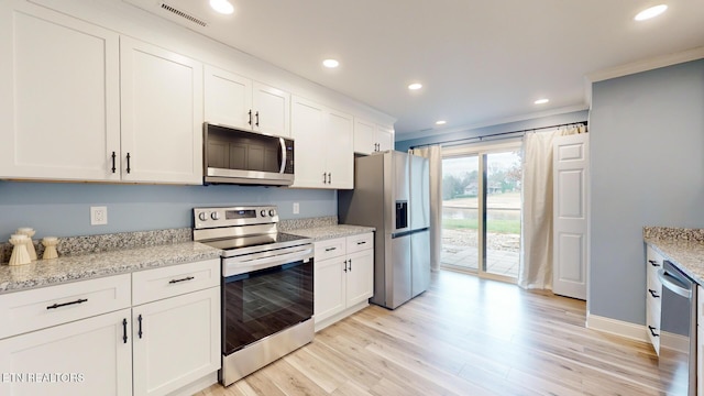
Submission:
[[[290,94],[217,67],[205,72],[207,122],[290,136]]]

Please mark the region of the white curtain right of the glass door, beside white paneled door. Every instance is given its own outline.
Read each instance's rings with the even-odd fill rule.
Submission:
[[[518,285],[552,289],[552,143],[586,132],[584,125],[527,133],[524,141],[524,210]]]

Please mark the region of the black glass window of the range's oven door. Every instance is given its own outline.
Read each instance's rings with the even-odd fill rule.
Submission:
[[[312,257],[222,278],[222,354],[312,317]]]

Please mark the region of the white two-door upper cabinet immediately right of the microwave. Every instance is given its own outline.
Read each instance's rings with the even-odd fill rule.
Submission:
[[[296,150],[292,187],[353,188],[352,116],[299,97],[293,98],[292,108]]]

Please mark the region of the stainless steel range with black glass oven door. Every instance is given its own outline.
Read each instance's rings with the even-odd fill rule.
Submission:
[[[277,232],[274,206],[196,208],[194,223],[194,241],[223,251],[220,382],[311,342],[312,240]]]

